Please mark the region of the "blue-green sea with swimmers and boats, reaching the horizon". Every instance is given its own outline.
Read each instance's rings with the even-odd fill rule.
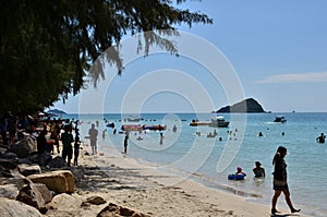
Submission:
[[[61,118],[78,120],[84,144],[89,143],[86,136],[90,124],[98,122],[98,152],[104,153],[104,157],[106,154],[123,156],[122,124],[166,125],[165,131],[130,132],[124,157],[266,205],[270,205],[274,194],[272,158],[278,146],[284,146],[288,149],[284,159],[294,206],[308,216],[327,216],[327,143],[316,142],[320,133],[327,134],[327,113],[219,113],[230,121],[228,128],[190,126],[193,120],[209,121],[216,116],[105,113],[63,114]],[[274,122],[277,116],[283,116],[287,122]],[[113,124],[114,128],[111,128]],[[218,135],[208,137],[214,130]],[[259,133],[263,136],[258,136]],[[265,179],[254,179],[252,169],[255,161],[261,161],[265,168]],[[228,180],[228,174],[234,173],[237,167],[242,167],[247,173],[245,180]],[[278,201],[280,206],[287,208],[283,195]]]

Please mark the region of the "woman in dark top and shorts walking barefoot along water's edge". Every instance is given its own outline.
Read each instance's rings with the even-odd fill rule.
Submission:
[[[272,207],[271,207],[271,214],[279,213],[276,209],[276,204],[279,195],[281,192],[284,194],[284,198],[287,201],[288,206],[290,207],[292,213],[299,213],[301,209],[295,209],[292,205],[291,197],[290,197],[290,191],[287,182],[287,164],[284,161],[284,156],[287,155],[287,148],[283,146],[279,146],[277,149],[277,153],[272,159],[272,165],[275,165],[275,171],[274,171],[274,190],[275,194],[272,196]]]

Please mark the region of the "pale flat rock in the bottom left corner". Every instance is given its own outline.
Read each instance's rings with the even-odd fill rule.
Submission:
[[[34,207],[22,202],[0,197],[0,217],[24,216],[24,217],[43,217]]]

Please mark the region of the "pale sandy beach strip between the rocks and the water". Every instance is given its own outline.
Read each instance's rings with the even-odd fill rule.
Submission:
[[[77,185],[82,198],[101,196],[150,216],[270,216],[269,206],[158,171],[123,155],[85,155],[88,148],[84,147],[78,159],[84,170],[84,179]],[[280,201],[283,203],[282,197]],[[104,207],[88,208],[83,216],[96,216]],[[281,210],[278,216],[300,216]]]

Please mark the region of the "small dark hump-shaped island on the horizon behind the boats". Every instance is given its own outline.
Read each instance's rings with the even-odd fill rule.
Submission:
[[[232,106],[226,106],[220,108],[216,113],[265,113],[262,105],[257,103],[254,98],[244,99]]]

